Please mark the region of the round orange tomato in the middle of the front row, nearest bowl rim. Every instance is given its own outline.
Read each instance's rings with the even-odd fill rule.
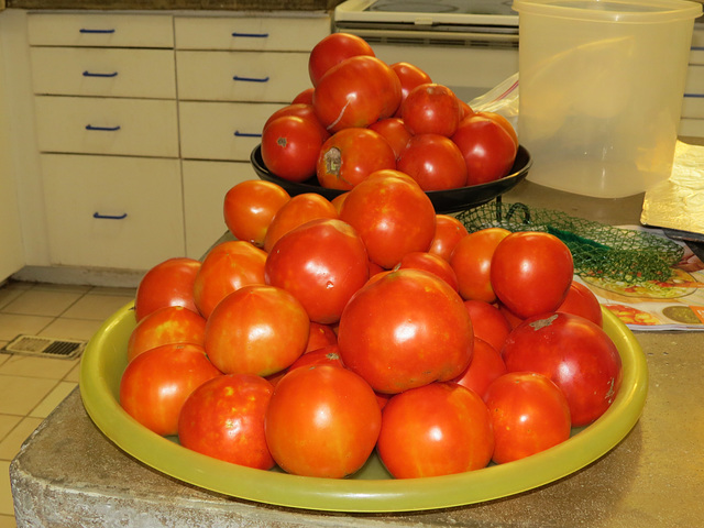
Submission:
[[[276,463],[304,476],[341,479],[374,450],[382,424],[376,396],[346,369],[295,369],[276,385],[265,419]]]

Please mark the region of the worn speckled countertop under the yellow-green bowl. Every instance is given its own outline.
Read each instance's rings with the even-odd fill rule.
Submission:
[[[606,221],[638,223],[642,195],[592,199],[524,182],[505,196]],[[552,484],[484,504],[405,514],[324,514],[260,505],[185,485],[127,455],[87,416],[78,391],[11,464],[20,528],[691,527],[704,516],[702,334],[636,332],[649,367],[642,416],[610,452]]]

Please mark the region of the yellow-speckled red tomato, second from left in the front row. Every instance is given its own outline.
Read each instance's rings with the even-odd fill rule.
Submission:
[[[184,448],[233,464],[271,470],[264,415],[274,387],[251,374],[215,377],[191,393],[178,419]]]

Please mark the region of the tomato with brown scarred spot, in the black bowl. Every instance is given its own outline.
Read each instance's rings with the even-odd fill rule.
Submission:
[[[396,155],[386,139],[370,129],[349,128],[322,144],[316,174],[322,187],[349,190],[383,168],[396,168]]]

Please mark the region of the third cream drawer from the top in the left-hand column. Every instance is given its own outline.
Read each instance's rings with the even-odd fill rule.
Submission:
[[[178,157],[176,101],[37,96],[40,151]]]

